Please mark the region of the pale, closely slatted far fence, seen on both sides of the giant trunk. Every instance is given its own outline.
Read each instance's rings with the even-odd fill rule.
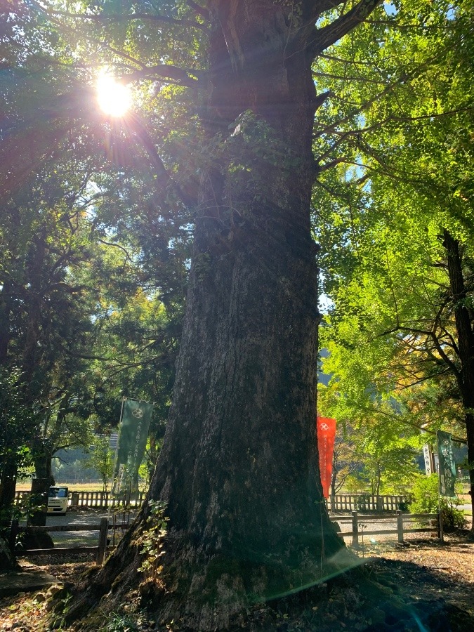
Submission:
[[[15,492],[15,503],[27,501],[29,492]],[[140,506],[145,499],[145,492],[139,492],[133,504]],[[410,502],[410,496],[370,496],[369,494],[336,494],[328,498],[329,511],[397,511],[405,510]],[[108,509],[117,506],[119,501],[110,492],[70,492],[69,506],[74,508]]]

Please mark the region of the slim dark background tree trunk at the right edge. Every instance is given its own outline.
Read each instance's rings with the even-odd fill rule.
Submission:
[[[471,506],[474,516],[474,331],[468,305],[466,286],[463,277],[463,264],[459,242],[444,231],[443,246],[447,252],[447,268],[449,285],[454,304],[454,318],[456,320],[458,355],[461,370],[456,376],[465,411],[466,435],[468,442],[468,470],[471,491]],[[473,519],[474,530],[474,519]]]

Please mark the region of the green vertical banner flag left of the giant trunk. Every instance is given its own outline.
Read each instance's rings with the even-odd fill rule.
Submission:
[[[112,485],[114,496],[138,492],[138,468],[147,446],[153,406],[150,402],[124,401]]]

